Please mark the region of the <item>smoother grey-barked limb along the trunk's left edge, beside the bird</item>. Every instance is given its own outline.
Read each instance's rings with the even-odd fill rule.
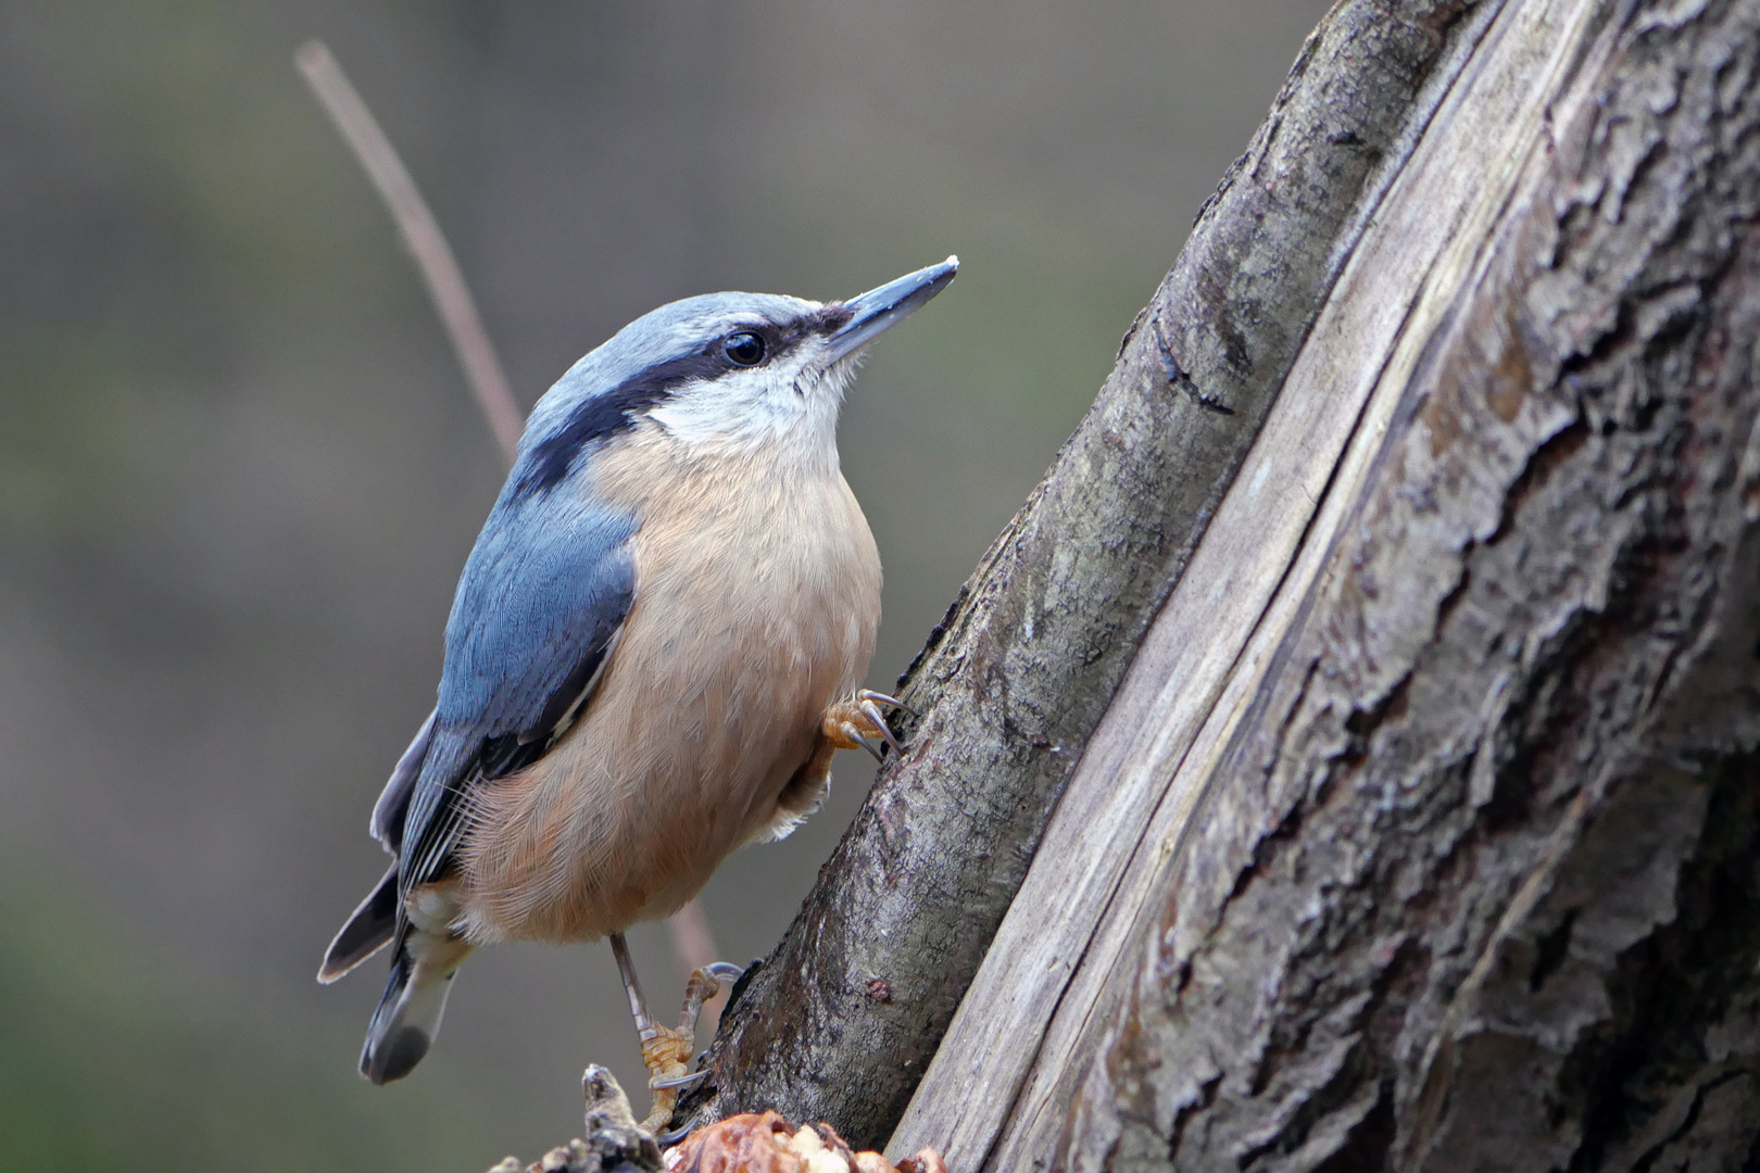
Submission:
[[[1397,174],[1387,160],[1412,151],[1448,90],[1438,74],[1484,28],[1463,12],[1352,0],[1309,39],[1095,406],[913,665],[910,751],[729,1009],[685,1111],[776,1108],[857,1145],[892,1129]]]

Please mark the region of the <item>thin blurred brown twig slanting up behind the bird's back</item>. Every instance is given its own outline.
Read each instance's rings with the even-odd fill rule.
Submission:
[[[322,40],[308,40],[294,53],[294,62],[306,76],[331,121],[336,123],[341,137],[354,149],[356,158],[361,160],[373,186],[385,199],[391,218],[398,222],[403,243],[408,244],[415,257],[415,267],[421,269],[422,281],[428,285],[428,295],[433,297],[435,310],[440,311],[445,332],[465,368],[465,378],[470,380],[472,394],[477,396],[477,404],[488,417],[502,452],[512,463],[524,417],[514,401],[512,387],[507,385],[507,375],[502,373],[502,364],[495,357],[495,346],[489,345],[489,334],[482,329],[477,302],[470,297],[458,259],[452,257],[452,250],[440,232],[440,223],[428,209],[428,200],[415,188],[415,181],[403,160],[398,158],[391,139],[378,128],[373,113],[366,109],[366,102],[348,83],[329,47]]]

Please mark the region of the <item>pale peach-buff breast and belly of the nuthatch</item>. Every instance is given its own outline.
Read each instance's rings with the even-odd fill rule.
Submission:
[[[583,941],[667,916],[773,825],[880,617],[873,538],[834,487],[637,533],[637,601],[584,714],[472,795],[470,939]]]

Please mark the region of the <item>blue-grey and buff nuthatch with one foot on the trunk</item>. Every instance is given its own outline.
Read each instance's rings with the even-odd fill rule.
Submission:
[[[392,863],[319,971],[391,950],[368,1080],[428,1053],[473,950],[609,939],[655,1090],[644,1127],[671,1117],[695,1008],[739,969],[697,971],[669,1029],[623,932],[788,835],[834,751],[901,751],[899,702],[861,688],[880,556],[836,426],[864,348],[957,269],[848,301],[674,301],[533,406],[459,575],[435,709],[373,805]]]

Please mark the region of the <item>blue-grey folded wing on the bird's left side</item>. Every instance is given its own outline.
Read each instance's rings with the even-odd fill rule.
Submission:
[[[586,705],[635,601],[634,533],[627,514],[567,494],[496,503],[447,621],[398,844],[403,892],[444,871],[470,788],[540,758]]]

